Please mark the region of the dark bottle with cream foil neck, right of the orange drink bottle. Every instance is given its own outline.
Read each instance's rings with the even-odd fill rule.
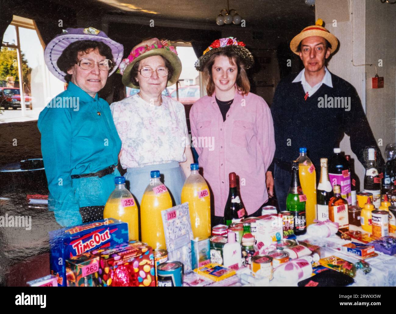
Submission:
[[[329,201],[331,197],[333,197],[333,187],[327,174],[327,158],[321,158],[320,181],[316,191],[316,219],[320,221],[329,219]]]

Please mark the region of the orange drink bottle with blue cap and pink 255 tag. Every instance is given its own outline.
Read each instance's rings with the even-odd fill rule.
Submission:
[[[139,216],[136,201],[131,192],[125,188],[125,178],[114,179],[116,188],[107,199],[103,218],[116,218],[128,223],[129,240],[139,238]]]

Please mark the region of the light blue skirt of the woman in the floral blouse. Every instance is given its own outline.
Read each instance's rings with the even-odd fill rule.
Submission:
[[[141,168],[128,168],[124,174],[125,180],[129,182],[129,191],[138,203],[142,201],[143,193],[150,184],[150,172],[160,171],[160,180],[168,188],[172,198],[173,206],[181,204],[181,189],[186,180],[183,169],[179,162],[163,163],[159,165],[149,165]],[[127,182],[127,183],[128,183]],[[128,186],[128,185],[127,185]]]

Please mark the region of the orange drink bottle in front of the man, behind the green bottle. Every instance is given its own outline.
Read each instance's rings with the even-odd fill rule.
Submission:
[[[305,202],[305,215],[307,226],[313,224],[316,218],[316,171],[312,161],[307,156],[307,148],[300,148],[300,156],[297,159],[299,163],[299,178],[303,193],[307,196]]]

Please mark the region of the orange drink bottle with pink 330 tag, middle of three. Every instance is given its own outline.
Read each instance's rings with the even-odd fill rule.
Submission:
[[[160,181],[160,172],[150,172],[151,180],[143,193],[140,204],[140,228],[142,241],[153,250],[166,250],[164,225],[161,211],[172,207],[172,199],[168,189]]]

